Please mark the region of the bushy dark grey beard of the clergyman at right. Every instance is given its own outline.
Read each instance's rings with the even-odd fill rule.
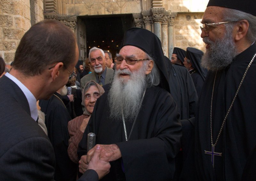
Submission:
[[[215,42],[208,40],[208,37],[204,37],[203,41],[210,44],[201,61],[202,67],[208,70],[225,69],[238,54],[235,42],[232,40],[231,29],[227,30],[223,38],[216,39]]]

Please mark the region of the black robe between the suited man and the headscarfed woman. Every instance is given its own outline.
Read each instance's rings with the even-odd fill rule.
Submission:
[[[62,99],[59,93],[54,94]],[[39,101],[41,111],[45,114],[45,126],[56,157],[54,179],[75,181],[77,164],[68,157],[68,121],[71,117],[65,105],[56,96],[53,95],[49,100]]]

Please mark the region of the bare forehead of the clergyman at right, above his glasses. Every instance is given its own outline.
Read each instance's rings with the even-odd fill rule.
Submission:
[[[204,11],[202,23],[218,23],[223,22],[223,12],[226,8],[220,6],[208,6]]]

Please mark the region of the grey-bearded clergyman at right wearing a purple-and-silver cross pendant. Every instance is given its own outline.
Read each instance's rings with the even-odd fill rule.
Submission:
[[[255,0],[210,0],[202,23],[202,64],[210,71],[196,112],[196,174],[247,180],[242,174],[256,146]]]

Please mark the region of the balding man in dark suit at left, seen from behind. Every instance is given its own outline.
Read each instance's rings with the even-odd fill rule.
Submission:
[[[37,124],[36,100],[65,85],[77,60],[76,36],[59,21],[41,21],[20,40],[0,79],[0,180],[53,180],[54,151]]]

